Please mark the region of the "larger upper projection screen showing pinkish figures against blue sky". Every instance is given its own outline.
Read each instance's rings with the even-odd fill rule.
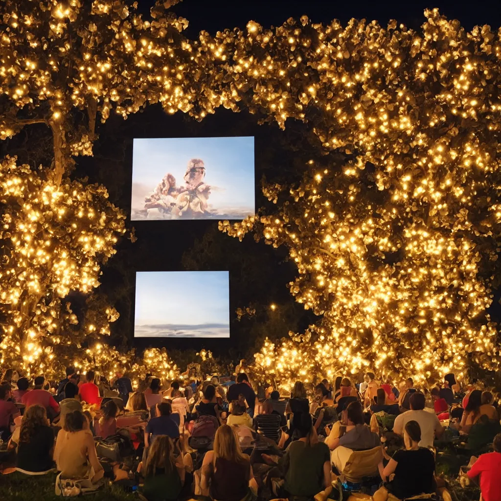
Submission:
[[[133,221],[254,213],[254,137],[134,139]]]

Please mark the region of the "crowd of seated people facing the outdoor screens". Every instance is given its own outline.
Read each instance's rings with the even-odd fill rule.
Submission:
[[[475,426],[499,426],[493,394],[475,386],[463,393],[452,374],[441,387],[429,389],[408,378],[400,391],[371,372],[360,385],[341,376],[332,386],[327,379],[315,386],[296,381],[284,397],[275,388],[265,389],[264,399],[258,399],[245,373],[234,375],[230,384],[215,376],[162,382],[148,375],[137,391],[123,371],[98,385],[94,371],[79,375],[68,367],[52,388],[43,376],[33,386],[14,376],[15,371],[6,372],[0,384],[0,432],[19,471],[54,470],[96,488],[105,479],[132,482],[148,501],[193,495],[218,501],[266,498],[270,478],[277,479],[276,497],[326,499],[337,478],[344,479],[343,488],[349,485],[346,478],[356,479],[362,457],[360,481],[367,472],[376,478],[376,501],[442,492],[434,475],[434,447],[449,439],[467,442]],[[209,422],[213,431],[203,428]],[[391,456],[384,446],[386,422],[402,438]],[[200,429],[208,440],[191,448],[196,442],[189,439]],[[132,466],[102,455],[103,444],[121,440],[130,443]],[[495,443],[501,448],[501,436]],[[489,461],[480,456],[472,472],[501,463],[495,447],[497,455]],[[492,490],[496,479],[492,474],[481,488]]]

